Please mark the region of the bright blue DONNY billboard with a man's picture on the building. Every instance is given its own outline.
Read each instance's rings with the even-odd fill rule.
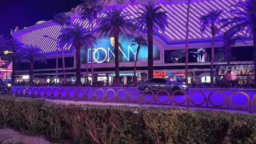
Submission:
[[[134,62],[138,45],[131,46],[133,37],[132,35],[125,35],[119,37],[119,62]],[[93,49],[93,62],[94,63],[110,63],[114,62],[114,47],[112,46],[113,38],[100,37],[97,38],[97,45],[94,44]],[[91,48],[88,50],[84,47],[81,49],[81,63],[86,63],[86,55],[88,55],[88,63],[91,62]],[[153,59],[154,61],[160,60],[160,51],[153,45]],[[137,61],[148,61],[148,47],[142,46],[139,50]]]

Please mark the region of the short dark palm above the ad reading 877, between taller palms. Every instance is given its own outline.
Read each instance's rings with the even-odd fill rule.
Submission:
[[[225,47],[225,57],[226,63],[230,64],[231,59],[231,46],[236,44],[237,40],[242,40],[242,38],[236,35],[236,31],[227,31],[223,34],[223,47]]]

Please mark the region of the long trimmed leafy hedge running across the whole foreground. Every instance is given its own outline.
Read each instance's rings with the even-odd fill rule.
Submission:
[[[54,105],[0,97],[0,127],[51,142],[256,143],[256,115],[174,107]]]

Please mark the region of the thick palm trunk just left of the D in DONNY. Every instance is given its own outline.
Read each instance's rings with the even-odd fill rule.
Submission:
[[[76,65],[76,75],[75,77],[77,77],[77,80],[75,81],[75,86],[81,86],[81,53],[80,53],[80,47],[81,45],[78,44],[78,42],[75,42],[75,65]]]

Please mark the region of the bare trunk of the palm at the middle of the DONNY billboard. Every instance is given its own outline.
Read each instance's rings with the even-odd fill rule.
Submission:
[[[119,76],[119,41],[118,41],[118,33],[114,33],[115,37],[115,47],[114,47],[114,53],[115,53],[115,86],[120,86],[120,76]]]

